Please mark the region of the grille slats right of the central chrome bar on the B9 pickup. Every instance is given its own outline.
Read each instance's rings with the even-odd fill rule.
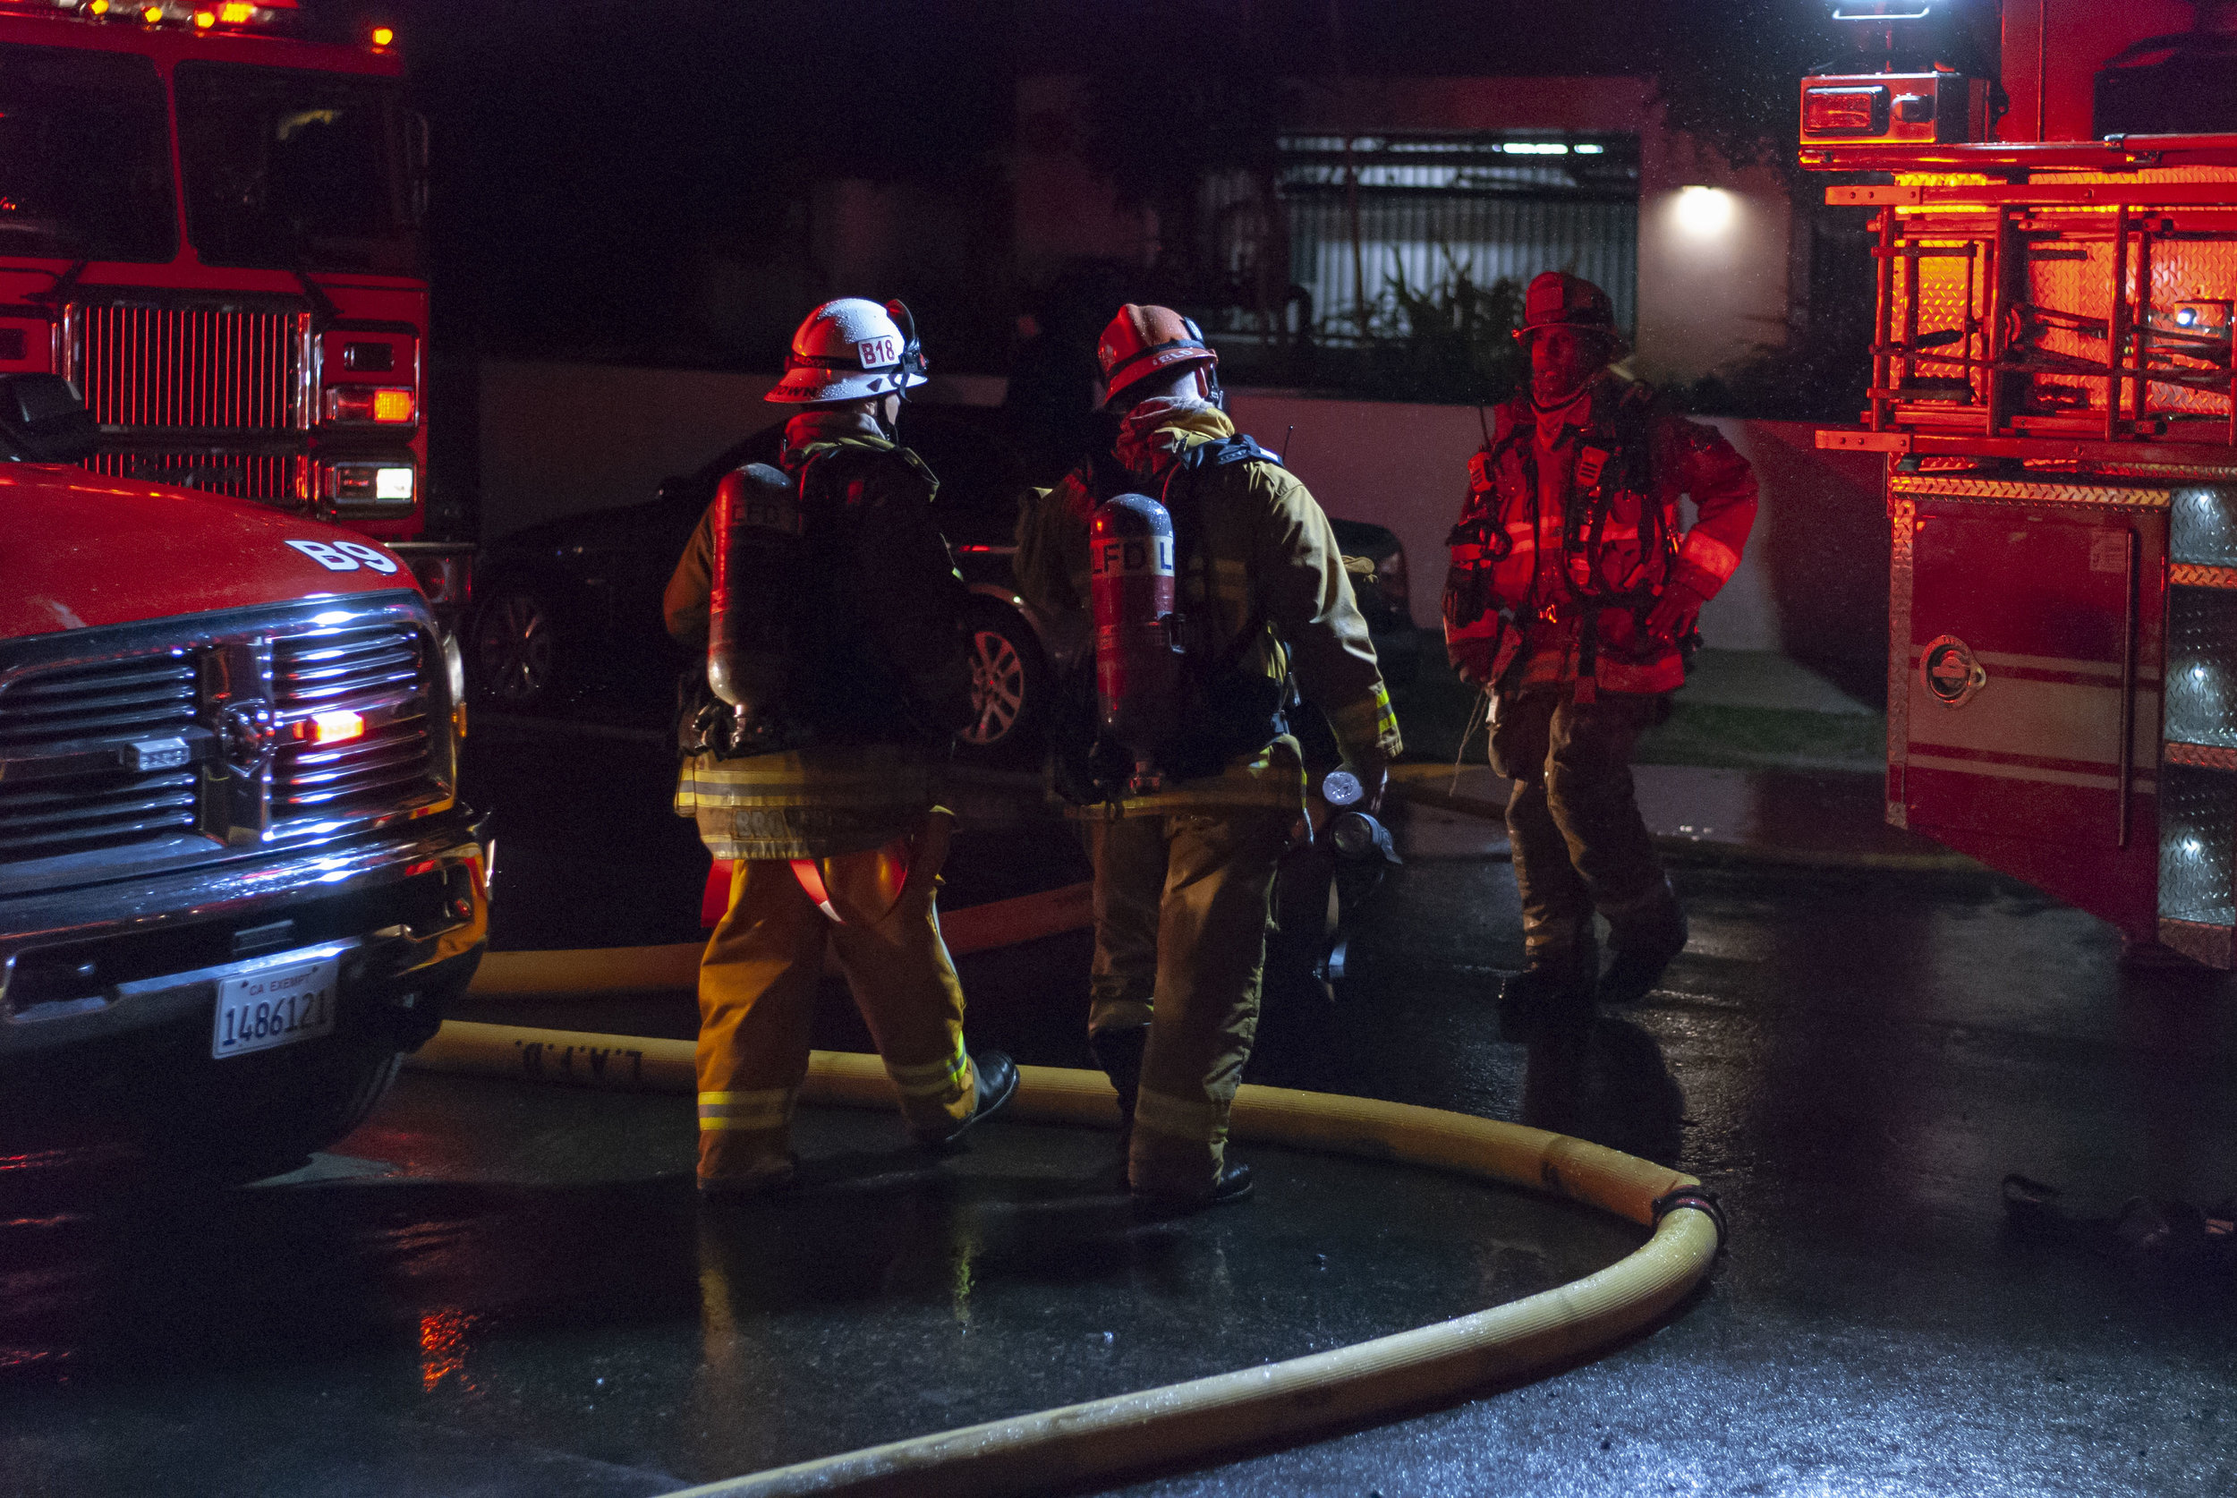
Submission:
[[[356,711],[365,738],[295,742],[273,769],[273,818],[380,809],[427,783],[434,745],[418,631],[371,626],[273,644],[273,707],[282,713]]]

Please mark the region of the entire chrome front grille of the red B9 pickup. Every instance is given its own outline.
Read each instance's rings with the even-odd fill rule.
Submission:
[[[443,662],[416,601],[0,646],[0,888],[302,845],[450,800]],[[318,715],[344,711],[360,731],[315,742]]]

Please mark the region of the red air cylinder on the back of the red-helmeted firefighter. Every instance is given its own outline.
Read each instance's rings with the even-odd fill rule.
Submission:
[[[1105,499],[1087,554],[1101,729],[1148,760],[1174,736],[1181,711],[1172,516],[1148,494]]]

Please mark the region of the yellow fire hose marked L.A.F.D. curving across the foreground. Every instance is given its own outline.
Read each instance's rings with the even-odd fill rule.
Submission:
[[[447,1022],[414,1066],[691,1093],[691,1042],[582,1035]],[[890,1109],[893,1084],[875,1055],[817,1051],[803,1102]],[[1018,1066],[1011,1116],[1116,1127],[1098,1071]],[[846,1451],[817,1462],[685,1489],[671,1498],[890,1494],[987,1498],[1110,1482],[1226,1451],[1291,1442],[1514,1380],[1608,1346],[1676,1306],[1709,1270],[1722,1239],[1700,1181],[1615,1149],[1443,1109],[1244,1087],[1233,1136],[1369,1160],[1427,1165],[1552,1192],[1653,1236],[1631,1257],[1575,1283],[1474,1315],[1264,1368],[1067,1404],[1011,1420]]]

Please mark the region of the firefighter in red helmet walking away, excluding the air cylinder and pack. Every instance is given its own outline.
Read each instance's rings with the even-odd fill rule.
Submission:
[[[1369,803],[1400,740],[1329,516],[1273,454],[1237,436],[1197,324],[1127,304],[1096,360],[1121,416],[1116,443],[1027,503],[1016,570],[1033,606],[1085,610],[1098,570],[1089,534],[1098,512],[1112,514],[1107,501],[1132,494],[1139,512],[1170,516],[1170,624],[1183,651],[1163,682],[1181,700],[1141,718],[1177,724],[1174,736],[1157,778],[1121,758],[1085,771],[1101,774],[1101,794],[1074,785],[1067,798],[1087,803],[1087,1035],[1127,1120],[1127,1178],[1139,1198],[1190,1207],[1250,1187],[1248,1167],[1226,1158],[1228,1107],[1257,1028],[1275,863],[1304,809],[1284,722],[1291,684],[1329,715]],[[1089,736],[1072,736],[1069,749]],[[1058,740],[1063,791],[1078,774],[1067,776]]]

